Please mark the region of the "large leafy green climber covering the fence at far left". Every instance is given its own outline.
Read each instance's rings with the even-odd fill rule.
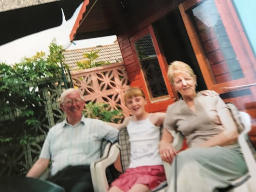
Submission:
[[[40,84],[61,76],[62,51],[52,41],[48,56],[37,52],[14,66],[0,63],[0,144],[28,144],[37,136],[38,117],[45,109]]]

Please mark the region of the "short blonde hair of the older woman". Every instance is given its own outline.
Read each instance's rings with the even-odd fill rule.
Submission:
[[[182,72],[188,72],[192,77],[195,76],[193,69],[185,62],[180,62],[180,61],[171,62],[167,72],[169,81],[173,84],[174,75]]]

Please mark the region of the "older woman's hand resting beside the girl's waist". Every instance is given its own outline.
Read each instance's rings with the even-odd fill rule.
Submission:
[[[159,143],[159,154],[161,159],[167,163],[172,163],[173,159],[177,155],[173,145],[165,141],[161,141]]]

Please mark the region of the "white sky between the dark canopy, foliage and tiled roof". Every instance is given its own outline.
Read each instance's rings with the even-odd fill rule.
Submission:
[[[48,46],[55,38],[57,45],[62,45],[63,48],[67,47],[69,43],[69,34],[76,21],[82,4],[76,9],[76,12],[71,19],[65,21],[63,19],[62,25],[48,30],[41,31],[36,34],[31,34],[22,37],[18,40],[11,41],[7,44],[0,46],[0,62],[8,65],[13,65],[16,62],[21,62],[22,58],[32,57],[36,52],[43,51],[48,54]],[[97,45],[109,45],[116,39],[115,35],[107,37],[92,38],[87,40],[75,41],[76,45],[71,44],[69,49],[89,48]]]

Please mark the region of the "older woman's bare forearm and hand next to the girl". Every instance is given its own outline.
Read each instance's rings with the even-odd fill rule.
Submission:
[[[177,155],[175,149],[172,146],[173,136],[172,134],[164,127],[161,141],[159,142],[159,154],[163,161],[167,163],[172,163],[173,159]]]

